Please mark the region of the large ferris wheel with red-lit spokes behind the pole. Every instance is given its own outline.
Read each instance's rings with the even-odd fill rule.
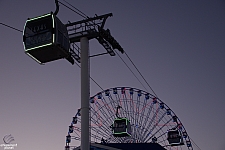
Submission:
[[[66,136],[66,149],[81,139],[80,109]],[[90,140],[97,143],[158,143],[167,150],[193,150],[177,115],[140,89],[115,87],[90,98]]]

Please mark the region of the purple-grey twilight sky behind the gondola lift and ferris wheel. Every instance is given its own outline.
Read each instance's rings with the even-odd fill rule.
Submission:
[[[189,136],[202,150],[225,149],[224,0],[68,2],[90,17],[112,12],[105,28],[180,118]],[[0,22],[20,30],[27,18],[51,11],[54,0],[0,0]],[[58,17],[63,23],[83,19],[64,6]],[[66,60],[39,65],[25,55],[22,33],[2,25],[0,51],[0,144],[1,138],[12,134],[16,150],[62,150],[80,107],[80,69]],[[91,40],[90,53],[100,52],[104,48]],[[118,56],[91,58],[91,77],[103,89],[145,90]],[[91,96],[100,91],[91,82]]]

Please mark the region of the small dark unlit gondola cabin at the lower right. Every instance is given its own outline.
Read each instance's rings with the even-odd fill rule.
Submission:
[[[170,130],[167,135],[167,140],[171,146],[184,145],[183,137],[180,131]]]

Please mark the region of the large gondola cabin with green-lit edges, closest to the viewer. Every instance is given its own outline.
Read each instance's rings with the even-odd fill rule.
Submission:
[[[26,21],[23,44],[25,53],[40,64],[70,56],[67,29],[53,13]]]

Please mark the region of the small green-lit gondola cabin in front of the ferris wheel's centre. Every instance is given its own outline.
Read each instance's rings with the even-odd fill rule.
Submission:
[[[113,123],[113,136],[126,137],[131,136],[131,125],[127,118],[117,118]]]

